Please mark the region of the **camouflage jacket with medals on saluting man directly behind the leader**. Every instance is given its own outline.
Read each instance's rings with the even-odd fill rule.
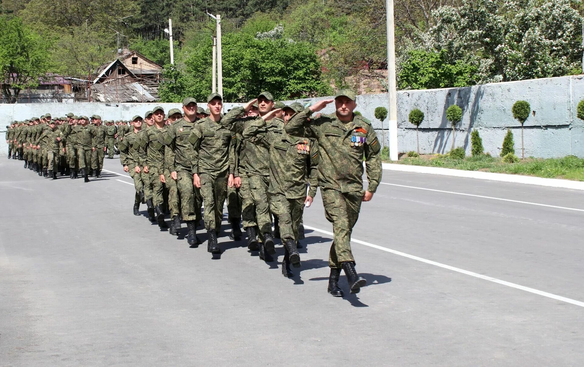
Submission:
[[[308,196],[314,198],[318,187],[317,143],[305,137],[288,135],[276,124],[270,130],[266,126],[262,118],[248,122],[242,136],[246,141],[264,146],[269,151],[270,185],[267,191],[285,195],[287,199],[304,198],[308,181]]]

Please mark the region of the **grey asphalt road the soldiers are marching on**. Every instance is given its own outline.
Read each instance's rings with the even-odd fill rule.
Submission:
[[[584,364],[584,192],[384,171],[353,231],[369,285],[339,299],[319,194],[287,279],[225,222],[212,259],[133,216],[117,159],[89,183],[22,163],[0,160],[2,366]]]

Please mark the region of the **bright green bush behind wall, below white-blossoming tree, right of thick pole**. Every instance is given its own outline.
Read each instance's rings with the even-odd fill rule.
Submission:
[[[474,85],[477,67],[462,60],[449,63],[447,51],[411,50],[399,72],[400,89],[434,89]]]

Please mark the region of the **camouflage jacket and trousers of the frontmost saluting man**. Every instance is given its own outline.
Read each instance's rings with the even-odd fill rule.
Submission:
[[[311,119],[310,109],[294,115],[286,132],[306,134],[318,141],[320,162],[318,183],[321,188],[325,216],[332,223],[334,240],[329,254],[329,266],[341,268],[342,262],[353,262],[351,232],[359,217],[363,199],[363,157],[367,160],[368,191],[374,193],[381,181],[380,144],[371,123],[355,115],[349,123],[341,122],[336,113]],[[353,144],[353,136],[365,141]]]

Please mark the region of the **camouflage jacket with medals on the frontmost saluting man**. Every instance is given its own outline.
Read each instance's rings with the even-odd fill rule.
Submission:
[[[363,190],[363,157],[367,161],[367,191],[376,192],[381,181],[381,146],[369,120],[354,116],[341,122],[336,113],[315,119],[310,109],[294,115],[286,124],[288,134],[305,134],[318,141],[318,184],[340,192]],[[354,137],[354,138],[353,138]],[[358,140],[359,143],[354,143]]]

